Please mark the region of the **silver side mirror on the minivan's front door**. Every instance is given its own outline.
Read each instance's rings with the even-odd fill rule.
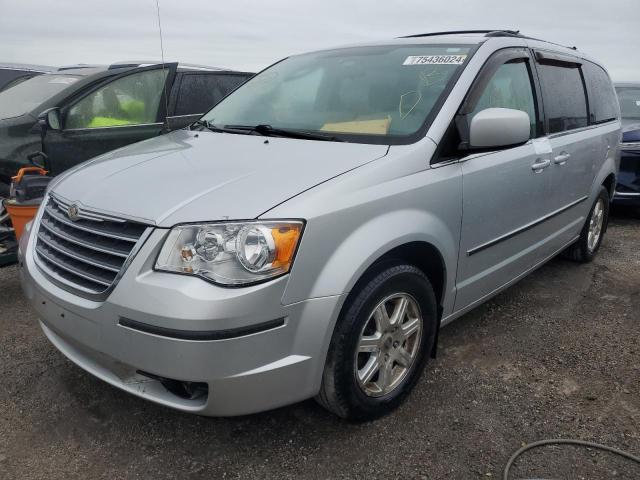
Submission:
[[[519,145],[529,140],[529,114],[511,108],[487,108],[471,119],[469,146],[495,148]]]

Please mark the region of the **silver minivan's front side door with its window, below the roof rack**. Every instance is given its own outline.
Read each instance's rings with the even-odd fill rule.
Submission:
[[[540,98],[529,51],[500,51],[480,72],[457,125],[486,108],[529,115],[530,140],[462,159],[463,218],[456,310],[470,307],[550,255],[553,225],[551,146],[544,137]],[[537,138],[539,137],[539,138]]]

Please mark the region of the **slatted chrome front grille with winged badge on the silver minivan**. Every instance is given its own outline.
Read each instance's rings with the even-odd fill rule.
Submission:
[[[147,229],[142,223],[75,210],[50,196],[38,228],[36,255],[41,267],[83,292],[107,291],[125,267]],[[70,217],[73,215],[73,220]]]

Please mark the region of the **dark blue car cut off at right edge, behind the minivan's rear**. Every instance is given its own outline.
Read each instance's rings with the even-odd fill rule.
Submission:
[[[615,85],[622,114],[620,173],[614,202],[640,207],[640,82]]]

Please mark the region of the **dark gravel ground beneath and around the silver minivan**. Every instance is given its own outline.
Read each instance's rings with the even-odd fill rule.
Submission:
[[[349,424],[313,401],[241,418],[182,414],[84,373],[0,270],[0,478],[501,478],[544,438],[640,454],[640,219],[612,219],[589,265],[557,259],[443,329],[408,401]],[[637,479],[640,465],[546,447],[510,478]]]

